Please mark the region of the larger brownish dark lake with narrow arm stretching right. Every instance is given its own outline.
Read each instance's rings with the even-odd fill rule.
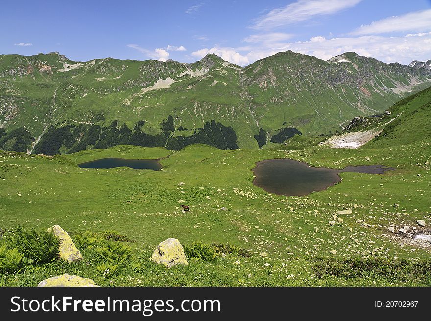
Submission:
[[[341,181],[341,172],[384,174],[394,170],[383,165],[347,166],[342,170],[312,167],[293,159],[267,159],[252,170],[253,184],[277,195],[305,196],[322,191]]]

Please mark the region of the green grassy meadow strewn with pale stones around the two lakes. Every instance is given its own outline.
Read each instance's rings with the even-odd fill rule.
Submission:
[[[35,285],[50,275],[67,272],[95,278],[101,285],[426,285],[428,277],[418,280],[411,273],[403,278],[382,277],[372,271],[365,277],[322,274],[317,278],[313,259],[425,262],[429,248],[403,245],[387,228],[417,227],[416,220],[424,219],[425,230],[429,230],[431,173],[425,162],[431,160],[430,155],[430,139],[359,150],[318,145],[301,150],[218,150],[190,145],[172,152],[117,146],[54,158],[2,152],[0,227],[21,224],[46,229],[59,224],[72,237],[85,231],[116,230],[134,241],[130,246],[142,266],[135,272],[124,267],[113,283],[107,283],[94,266],[54,262],[28,268],[17,274],[16,281],[15,276],[3,275],[3,284]],[[76,166],[103,157],[162,158],[164,169]],[[255,162],[285,157],[314,166],[382,164],[396,171],[342,173],[341,183],[305,197],[277,196],[252,184]],[[179,186],[179,182],[185,184]],[[190,213],[182,213],[180,203],[189,205]],[[392,207],[394,203],[400,207]],[[220,210],[223,206],[229,211]],[[346,208],[353,209],[353,214],[330,226],[332,215]],[[358,219],[371,226],[361,226]],[[252,256],[232,253],[215,262],[192,259],[188,267],[166,270],[148,262],[148,257],[169,237],[185,246],[229,244]]]

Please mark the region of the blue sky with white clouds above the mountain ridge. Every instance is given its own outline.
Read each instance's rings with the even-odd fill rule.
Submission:
[[[431,59],[430,0],[7,1],[0,30],[0,54],[58,51],[75,61],[216,53],[244,66],[286,50]]]

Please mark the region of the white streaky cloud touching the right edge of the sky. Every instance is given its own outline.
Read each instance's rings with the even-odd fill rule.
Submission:
[[[431,31],[431,9],[410,12],[402,16],[394,16],[368,25],[361,25],[352,35],[382,34],[390,32],[426,32]]]

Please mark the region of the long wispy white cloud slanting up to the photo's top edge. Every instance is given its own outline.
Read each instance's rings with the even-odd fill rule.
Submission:
[[[316,16],[330,15],[350,8],[362,0],[298,0],[283,8],[273,9],[255,20],[254,29],[273,29]]]

